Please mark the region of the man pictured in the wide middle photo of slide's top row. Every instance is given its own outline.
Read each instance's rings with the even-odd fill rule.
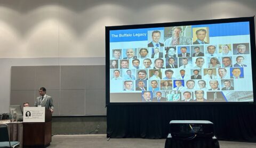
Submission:
[[[165,46],[177,46],[177,45],[191,45],[191,38],[180,36],[182,32],[181,27],[174,27],[172,30],[172,37],[165,40]]]

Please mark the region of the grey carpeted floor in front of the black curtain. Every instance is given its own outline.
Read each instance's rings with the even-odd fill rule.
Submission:
[[[165,139],[111,138],[106,135],[55,135],[49,148],[52,147],[93,147],[93,148],[148,148],[164,147]],[[256,148],[256,143],[219,141],[221,148]]]

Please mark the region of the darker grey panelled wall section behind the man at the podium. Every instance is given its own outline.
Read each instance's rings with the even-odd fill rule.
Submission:
[[[11,105],[29,102],[33,106],[38,88],[44,86],[53,98],[53,116],[105,115],[102,73],[105,65],[12,67]]]

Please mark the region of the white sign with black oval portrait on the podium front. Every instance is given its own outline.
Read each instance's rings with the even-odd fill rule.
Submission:
[[[23,122],[45,122],[45,107],[24,107]]]

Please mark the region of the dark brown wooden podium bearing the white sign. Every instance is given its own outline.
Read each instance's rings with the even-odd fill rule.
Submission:
[[[45,109],[44,115],[44,122],[23,122],[23,147],[46,147],[50,145],[52,141],[51,111]],[[23,116],[23,121],[26,118],[25,116]],[[33,113],[31,113],[31,116],[33,116]]]

